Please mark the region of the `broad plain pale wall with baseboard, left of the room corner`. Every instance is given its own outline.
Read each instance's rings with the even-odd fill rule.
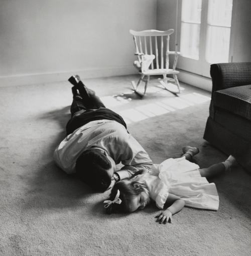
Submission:
[[[0,86],[134,73],[129,29],[156,15],[157,0],[1,0]]]

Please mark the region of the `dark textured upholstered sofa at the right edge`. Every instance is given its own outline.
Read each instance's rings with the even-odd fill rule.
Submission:
[[[251,172],[251,62],[212,64],[203,138]]]

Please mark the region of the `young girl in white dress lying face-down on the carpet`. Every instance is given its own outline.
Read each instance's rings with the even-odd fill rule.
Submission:
[[[159,209],[168,207],[156,216],[156,221],[172,223],[172,215],[184,206],[218,210],[216,186],[206,178],[228,170],[236,164],[235,158],[230,155],[224,162],[199,168],[189,161],[199,149],[185,146],[182,150],[184,154],[180,158],[169,158],[154,164],[149,173],[117,182],[111,190],[110,200],[104,201],[106,212],[134,212],[144,209],[153,200]]]

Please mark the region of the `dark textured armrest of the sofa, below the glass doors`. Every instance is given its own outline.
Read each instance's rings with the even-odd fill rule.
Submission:
[[[251,62],[212,64],[212,93],[217,90],[251,84]]]

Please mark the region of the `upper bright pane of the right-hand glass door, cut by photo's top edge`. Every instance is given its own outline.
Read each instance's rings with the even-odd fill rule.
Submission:
[[[208,0],[208,24],[230,27],[231,17],[232,0]]]

